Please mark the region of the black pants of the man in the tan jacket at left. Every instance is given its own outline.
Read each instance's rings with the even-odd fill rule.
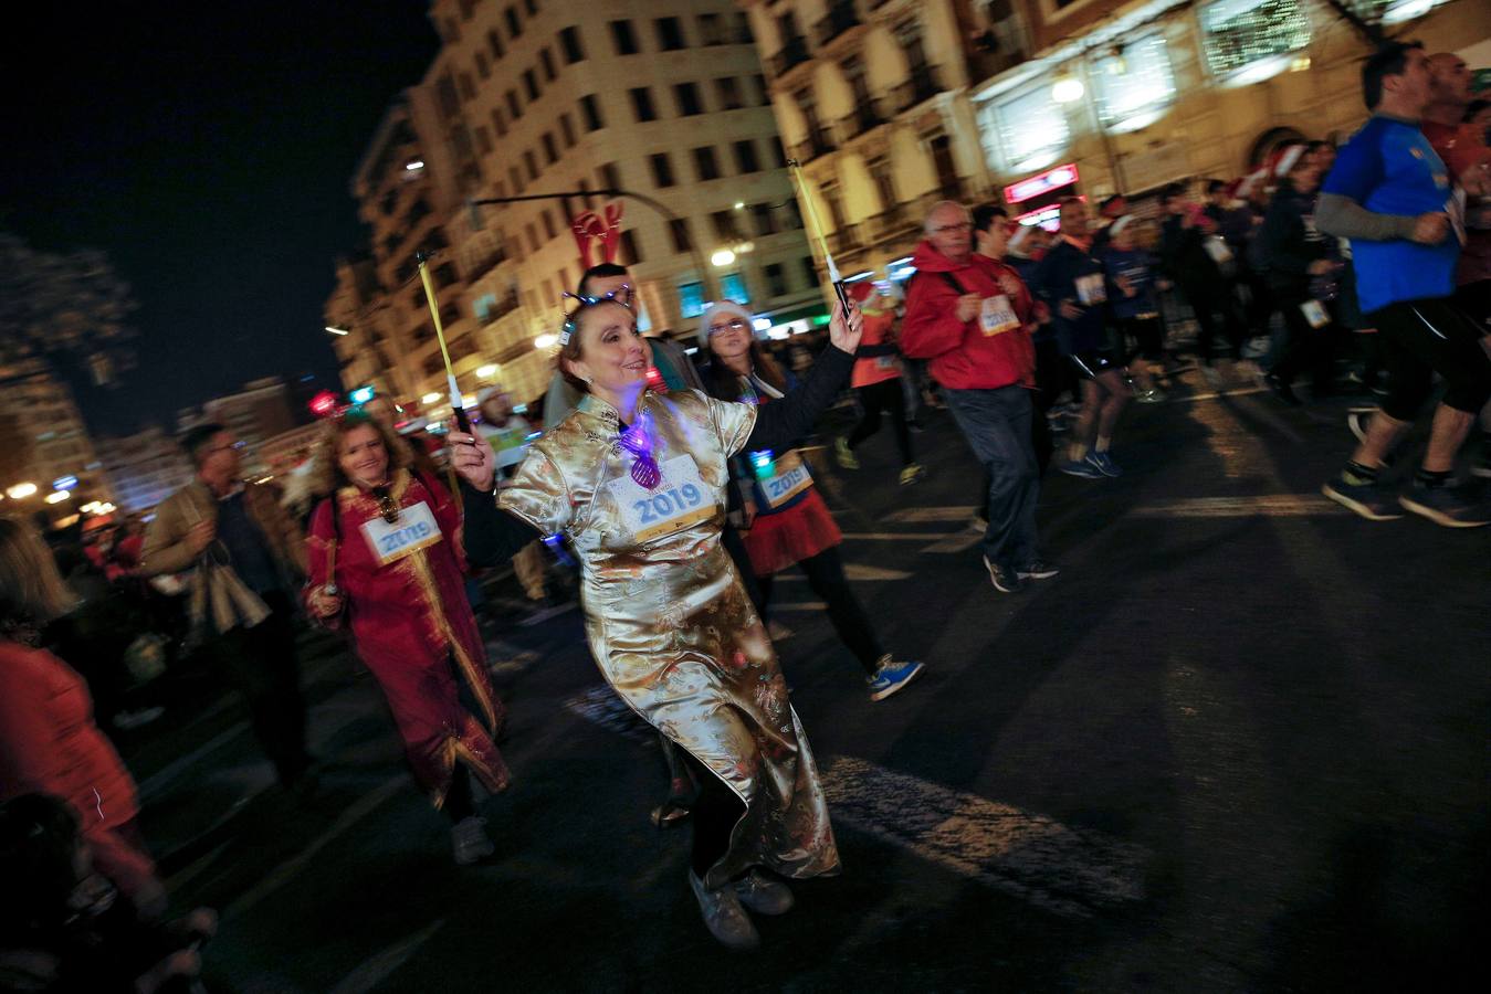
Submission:
[[[261,595],[270,615],[250,629],[233,629],[203,645],[228,668],[249,705],[249,720],[282,784],[306,772],[306,702],[300,693],[300,659],[289,598]]]

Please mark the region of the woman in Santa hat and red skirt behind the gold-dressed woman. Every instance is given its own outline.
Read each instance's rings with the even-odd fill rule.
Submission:
[[[705,386],[722,401],[768,404],[796,386],[796,377],[754,341],[751,313],[734,301],[720,301],[704,313],[699,346],[711,356]],[[796,563],[828,605],[839,641],[865,668],[869,699],[884,700],[910,684],[921,672],[921,663],[893,660],[875,638],[874,624],[844,578],[838,554],[842,535],[813,486],[801,452],[789,447],[780,455],[743,453],[731,460],[731,481],[740,487],[746,508],[743,538],[760,590],[762,620],[771,602],[772,577]]]

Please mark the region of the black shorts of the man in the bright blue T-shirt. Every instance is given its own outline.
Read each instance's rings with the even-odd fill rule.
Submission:
[[[1491,356],[1481,346],[1481,328],[1448,297],[1400,301],[1366,314],[1382,335],[1388,396],[1382,413],[1400,422],[1418,416],[1433,387],[1445,377],[1445,407],[1478,414],[1491,396]]]

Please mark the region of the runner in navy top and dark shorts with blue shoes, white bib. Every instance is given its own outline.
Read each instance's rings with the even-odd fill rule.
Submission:
[[[1062,201],[1062,240],[1035,273],[1033,289],[1056,319],[1056,337],[1082,383],[1082,410],[1059,468],[1074,477],[1096,480],[1123,471],[1109,455],[1114,426],[1129,402],[1123,365],[1108,347],[1103,304],[1108,289],[1103,264],[1093,255],[1087,204],[1075,197]]]

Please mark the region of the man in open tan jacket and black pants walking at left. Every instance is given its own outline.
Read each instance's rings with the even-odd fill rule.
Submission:
[[[315,787],[295,651],[306,538],[273,484],[245,483],[242,444],[222,425],[182,438],[197,477],[155,508],[140,574],[191,572],[189,641],[227,666],[282,785]]]

